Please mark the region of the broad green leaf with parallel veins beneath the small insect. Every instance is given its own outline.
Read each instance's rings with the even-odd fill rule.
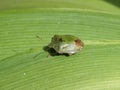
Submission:
[[[0,90],[119,90],[120,12],[94,1],[104,7],[82,0],[71,1],[74,9],[67,0],[52,0],[60,5],[54,9],[48,1],[36,8],[37,0],[11,2],[10,10],[0,5]],[[69,57],[47,57],[44,47],[54,34],[77,36],[85,47]]]

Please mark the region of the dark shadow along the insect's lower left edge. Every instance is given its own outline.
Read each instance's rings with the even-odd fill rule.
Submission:
[[[59,54],[58,52],[56,52],[53,48],[50,48],[48,46],[44,46],[43,50],[48,52],[50,56],[60,56],[60,55],[64,55],[64,56],[69,56],[68,54],[64,53],[64,54]]]

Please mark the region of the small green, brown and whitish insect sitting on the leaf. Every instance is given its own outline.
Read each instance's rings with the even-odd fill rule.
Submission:
[[[72,55],[82,50],[83,42],[72,35],[54,35],[49,48],[53,48],[58,54]]]

